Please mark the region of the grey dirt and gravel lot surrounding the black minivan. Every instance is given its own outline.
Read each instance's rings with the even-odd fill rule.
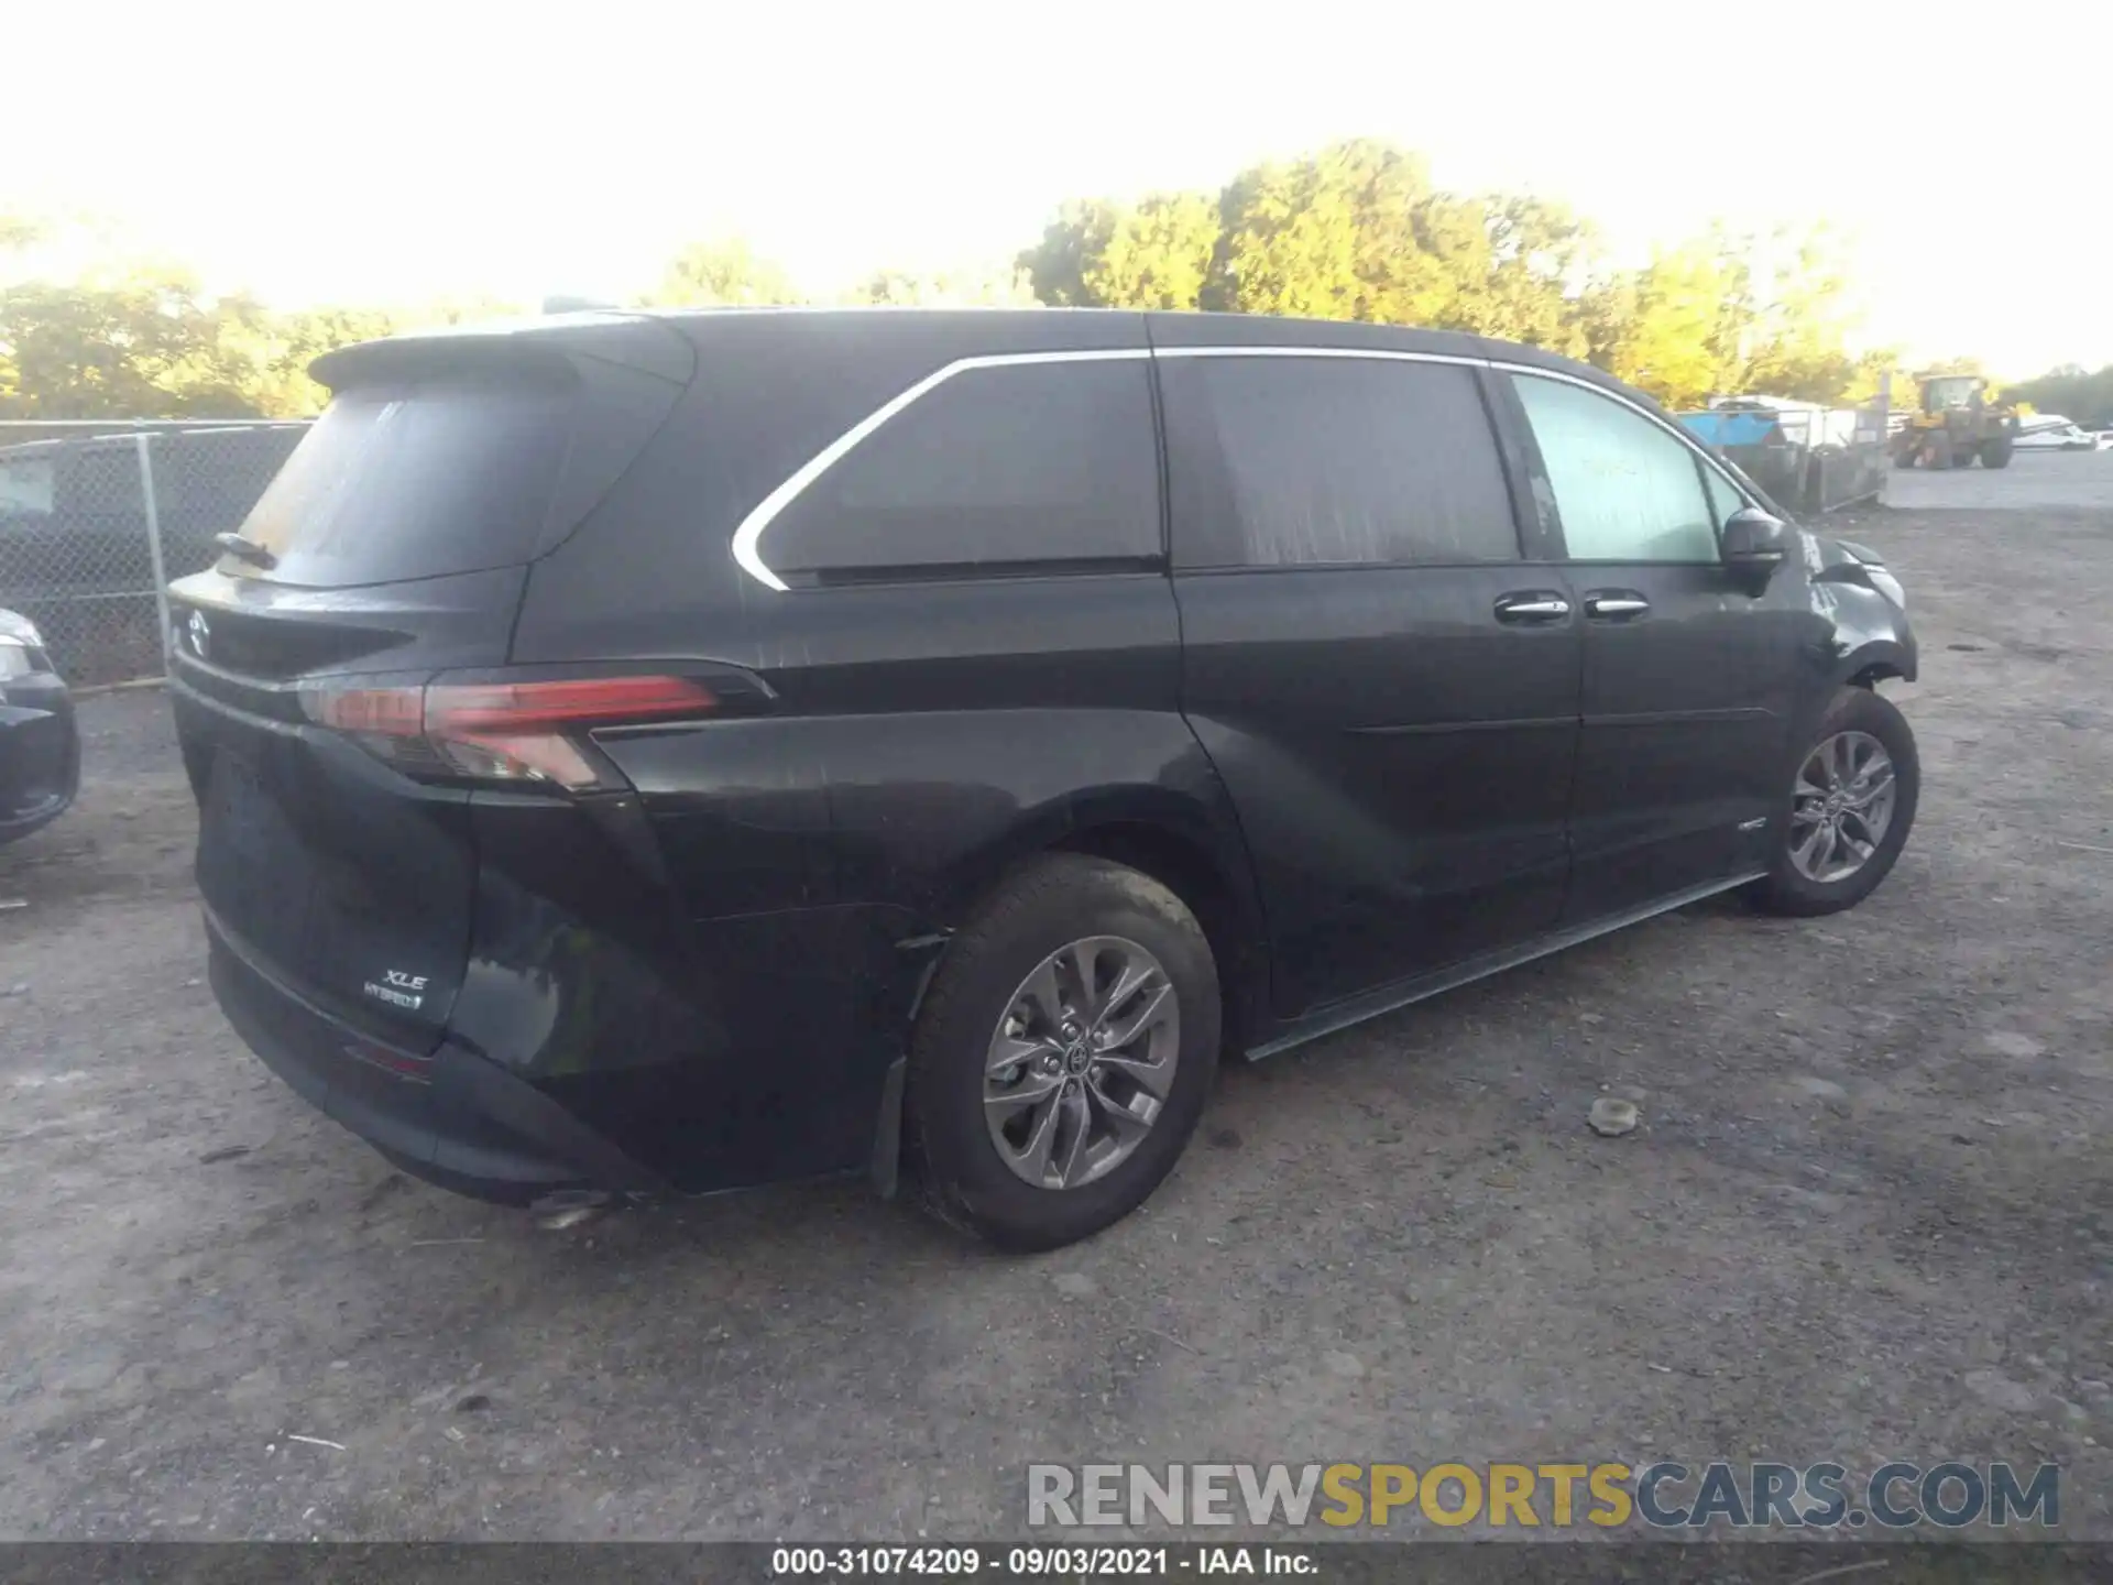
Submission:
[[[0,1534],[1016,1536],[1029,1460],[1957,1456],[2060,1460],[2113,1536],[2113,492],[2043,505],[2094,467],[1847,526],[1925,645],[1864,909],[1703,905],[1230,1071],[1042,1260],[854,1183],[556,1234],[397,1177],[222,1025],[165,704],[89,702],[82,805],[0,852]]]

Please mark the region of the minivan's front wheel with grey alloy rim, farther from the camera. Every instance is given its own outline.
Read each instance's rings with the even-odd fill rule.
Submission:
[[[1921,788],[1908,719],[1874,689],[1845,687],[1798,754],[1754,902],[1788,915],[1853,909],[1900,858]]]

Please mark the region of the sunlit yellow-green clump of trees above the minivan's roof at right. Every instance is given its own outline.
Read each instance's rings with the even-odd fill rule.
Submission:
[[[1849,271],[1832,232],[1712,226],[1616,271],[1568,207],[1437,190],[1422,156],[1376,139],[1240,171],[1219,192],[1215,226],[1200,194],[1067,203],[1021,266],[1052,304],[1519,340],[1591,357],[1678,406],[1750,389],[1838,402],[1874,380],[1870,355],[1851,351]]]

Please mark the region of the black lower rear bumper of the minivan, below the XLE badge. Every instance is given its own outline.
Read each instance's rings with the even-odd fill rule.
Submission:
[[[431,1055],[385,1046],[273,978],[211,915],[205,926],[213,995],[243,1042],[406,1173],[501,1205],[573,1188],[666,1190],[494,1063],[446,1040]]]

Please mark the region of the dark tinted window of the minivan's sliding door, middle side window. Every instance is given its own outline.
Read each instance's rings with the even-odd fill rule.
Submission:
[[[1380,357],[1162,357],[1183,566],[1519,558],[1473,370]]]

